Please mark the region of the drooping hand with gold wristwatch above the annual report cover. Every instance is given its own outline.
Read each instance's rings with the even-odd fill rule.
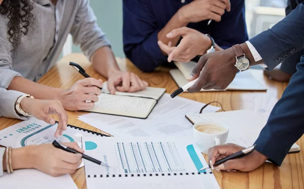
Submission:
[[[58,115],[59,124],[55,132],[55,137],[62,135],[63,131],[66,130],[67,126],[67,114],[59,100],[39,100],[32,98],[22,98],[21,100],[22,109],[31,114],[33,117],[43,120],[48,124],[54,125],[54,118],[49,115]]]

